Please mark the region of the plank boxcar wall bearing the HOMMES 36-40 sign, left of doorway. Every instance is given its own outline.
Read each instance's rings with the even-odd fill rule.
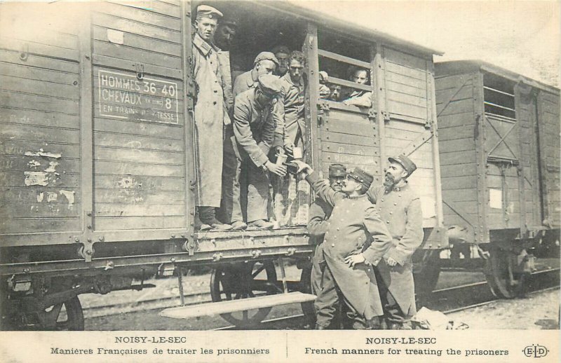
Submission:
[[[184,233],[181,2],[60,6],[2,21],[4,245]]]

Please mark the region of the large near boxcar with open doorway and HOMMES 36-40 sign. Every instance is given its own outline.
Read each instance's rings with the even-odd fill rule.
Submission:
[[[282,228],[195,230],[191,24],[198,4],[0,5],[4,329],[82,329],[79,294],[140,289],[166,266],[177,270],[181,294],[182,268],[217,267],[215,301],[301,288],[280,281],[273,260],[302,266],[312,252],[305,224],[313,196],[304,183],[293,191],[303,212]],[[429,251],[419,256],[421,266],[432,266],[432,251],[447,246],[433,137],[437,52],[294,4],[212,6],[238,17],[231,69],[250,69],[257,53],[280,43],[304,52],[304,149],[316,169],[360,166],[381,183],[387,156],[407,153],[417,163],[411,182],[421,193]],[[366,69],[370,83],[346,80],[351,65]],[[332,84],[370,91],[370,107],[320,100],[319,71]],[[275,303],[310,299],[288,296],[252,306],[252,315],[224,317],[250,324]]]

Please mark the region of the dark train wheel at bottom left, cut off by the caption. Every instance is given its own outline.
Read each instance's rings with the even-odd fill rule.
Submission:
[[[78,296],[46,308],[39,313],[39,329],[58,331],[83,330],[83,311]]]

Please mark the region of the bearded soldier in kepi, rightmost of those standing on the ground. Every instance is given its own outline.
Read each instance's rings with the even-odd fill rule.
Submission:
[[[377,266],[384,317],[388,329],[403,329],[417,313],[411,257],[423,242],[423,214],[419,196],[407,183],[417,166],[404,155],[388,161],[384,186],[372,186],[368,196],[392,236],[392,245]]]

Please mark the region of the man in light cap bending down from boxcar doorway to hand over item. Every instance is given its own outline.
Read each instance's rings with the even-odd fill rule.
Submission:
[[[257,228],[273,228],[266,221],[268,172],[280,177],[286,174],[285,165],[271,163],[267,157],[273,144],[273,107],[279,93],[280,79],[264,74],[259,76],[257,87],[240,93],[234,101],[234,135],[241,154],[241,168],[248,176],[247,221],[249,226]]]

